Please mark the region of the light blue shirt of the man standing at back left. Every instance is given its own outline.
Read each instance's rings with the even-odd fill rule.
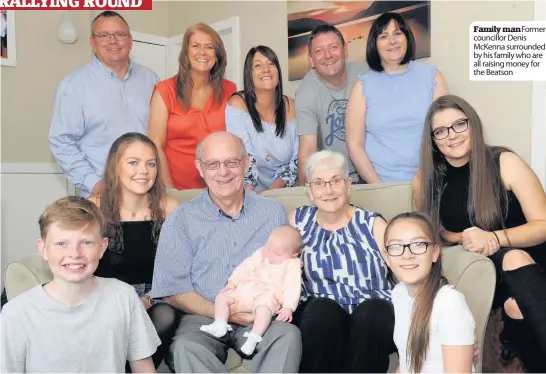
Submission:
[[[150,98],[159,77],[131,62],[124,79],[96,56],[59,85],[49,146],[67,179],[89,196],[102,178],[108,151],[127,132],[148,132]]]

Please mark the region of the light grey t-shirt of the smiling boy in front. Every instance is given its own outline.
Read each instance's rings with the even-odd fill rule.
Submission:
[[[2,309],[2,373],[125,373],[126,360],[150,357],[161,344],[130,285],[99,278],[83,304],[68,307],[42,285]]]

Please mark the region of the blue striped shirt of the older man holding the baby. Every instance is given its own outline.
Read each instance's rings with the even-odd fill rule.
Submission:
[[[281,203],[246,192],[233,217],[215,205],[208,191],[181,204],[161,229],[154,265],[154,299],[196,292],[214,301],[229,276],[267,237],[287,223]]]

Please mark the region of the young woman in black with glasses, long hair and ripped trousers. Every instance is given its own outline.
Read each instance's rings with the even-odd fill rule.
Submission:
[[[428,110],[420,162],[418,209],[444,241],[495,264],[503,360],[517,354],[528,371],[546,371],[546,195],[535,173],[510,150],[487,145],[474,108],[453,95]]]

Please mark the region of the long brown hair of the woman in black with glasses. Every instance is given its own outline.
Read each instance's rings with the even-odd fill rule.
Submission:
[[[432,118],[445,109],[456,109],[468,118],[472,131],[470,150],[470,185],[467,201],[469,220],[482,230],[504,229],[504,214],[508,195],[500,174],[498,158],[502,152],[511,152],[504,147],[491,147],[485,143],[483,125],[476,110],[464,99],[455,95],[437,98],[428,109],[425,129],[421,140],[419,170],[419,195],[416,202],[419,210],[427,213],[432,222],[440,225],[440,199],[447,171],[446,159],[432,139]]]

